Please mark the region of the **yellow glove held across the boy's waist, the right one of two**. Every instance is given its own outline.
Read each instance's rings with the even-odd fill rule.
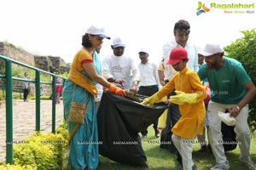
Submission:
[[[196,102],[197,94],[185,94],[181,91],[175,91],[177,95],[171,96],[169,101],[173,104],[183,105],[184,103],[193,104]]]

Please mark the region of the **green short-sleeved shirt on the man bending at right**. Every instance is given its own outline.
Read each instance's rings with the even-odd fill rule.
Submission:
[[[228,57],[224,57],[224,65],[218,69],[210,70],[206,63],[201,65],[197,74],[201,80],[208,79],[211,100],[224,105],[239,103],[247,93],[244,86],[252,81],[241,63]]]

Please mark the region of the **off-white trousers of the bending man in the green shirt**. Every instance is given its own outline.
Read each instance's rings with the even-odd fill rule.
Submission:
[[[212,147],[212,153],[218,164],[224,163],[227,158],[224,154],[223,139],[221,133],[221,121],[218,119],[218,111],[225,112],[231,106],[210,101],[208,105],[209,119],[209,140]],[[236,116],[235,133],[236,141],[240,148],[240,158],[243,161],[251,161],[250,156],[250,130],[247,124],[248,105],[245,105],[238,116]]]

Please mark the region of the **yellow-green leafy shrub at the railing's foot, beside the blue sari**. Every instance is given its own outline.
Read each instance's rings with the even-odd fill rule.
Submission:
[[[14,145],[15,165],[31,165],[41,169],[61,169],[63,151],[67,140],[61,134],[35,133],[34,136],[26,138],[26,144]]]

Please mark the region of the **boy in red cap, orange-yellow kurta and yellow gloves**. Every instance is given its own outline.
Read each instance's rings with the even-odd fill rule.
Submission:
[[[188,54],[184,48],[173,48],[166,64],[172,65],[177,73],[157,93],[144,99],[143,104],[154,105],[176,89],[177,95],[166,101],[168,105],[179,105],[181,113],[181,118],[172,127],[172,142],[182,156],[183,170],[195,170],[197,167],[192,161],[192,144],[196,135],[203,133],[206,114],[203,100],[207,93],[196,72],[187,66],[188,61]]]

